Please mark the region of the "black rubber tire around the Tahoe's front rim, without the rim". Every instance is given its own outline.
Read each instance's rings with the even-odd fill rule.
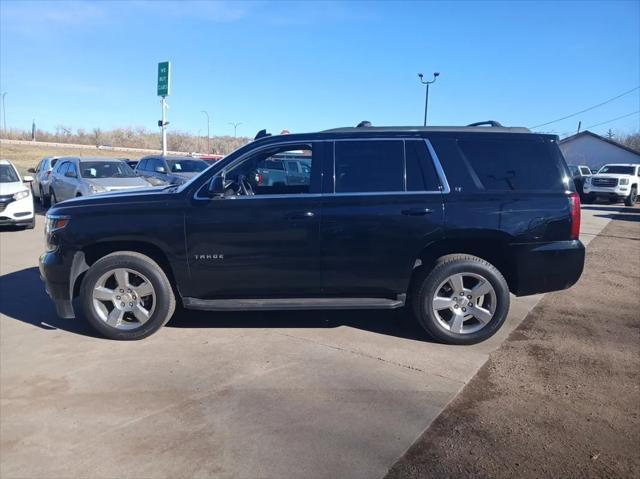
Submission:
[[[156,304],[150,318],[135,329],[121,330],[104,322],[93,308],[93,289],[102,275],[117,268],[141,273],[155,290]],[[100,334],[109,339],[137,340],[152,335],[173,316],[176,300],[167,275],[148,256],[133,251],[111,253],[96,261],[85,274],[80,288],[80,301],[85,318]]]

